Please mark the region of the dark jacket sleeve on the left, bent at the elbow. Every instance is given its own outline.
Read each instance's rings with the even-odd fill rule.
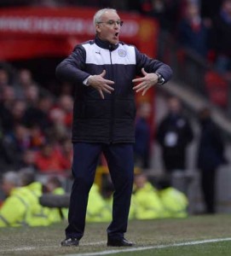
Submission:
[[[76,46],[72,54],[56,67],[56,78],[70,82],[72,84],[81,84],[84,79],[90,76],[90,73],[84,72],[86,52],[82,45]]]

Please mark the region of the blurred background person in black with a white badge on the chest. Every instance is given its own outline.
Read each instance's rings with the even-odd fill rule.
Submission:
[[[159,121],[156,139],[161,148],[165,174],[173,177],[186,170],[189,143],[193,141],[193,129],[182,111],[182,102],[175,96],[168,99],[168,112]]]

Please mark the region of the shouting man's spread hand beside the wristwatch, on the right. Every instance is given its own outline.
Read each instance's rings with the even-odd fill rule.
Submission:
[[[143,73],[144,77],[141,79],[133,79],[132,82],[141,82],[140,84],[134,86],[133,90],[136,90],[136,92],[142,91],[142,96],[144,96],[149,88],[157,84],[158,76],[156,73],[146,73],[144,68],[141,69],[141,72]]]

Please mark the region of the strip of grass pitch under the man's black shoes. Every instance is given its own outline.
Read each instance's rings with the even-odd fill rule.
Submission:
[[[107,247],[108,223],[87,223],[79,247],[61,247],[66,222],[49,227],[0,229],[0,255],[230,256],[231,215],[130,221],[134,247]]]

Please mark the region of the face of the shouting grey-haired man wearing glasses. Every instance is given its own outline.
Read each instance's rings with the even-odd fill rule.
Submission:
[[[111,44],[118,44],[118,34],[120,31],[120,18],[117,13],[107,11],[101,16],[101,22],[96,24],[98,37]]]

